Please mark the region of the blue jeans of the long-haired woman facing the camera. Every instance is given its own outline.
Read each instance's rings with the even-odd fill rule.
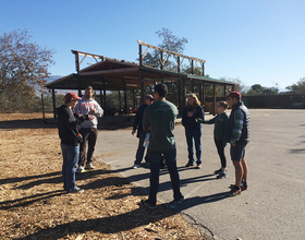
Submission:
[[[202,129],[185,129],[185,136],[187,143],[188,151],[188,163],[194,164],[194,148],[193,148],[193,139],[195,141],[195,149],[196,149],[196,164],[202,164]]]

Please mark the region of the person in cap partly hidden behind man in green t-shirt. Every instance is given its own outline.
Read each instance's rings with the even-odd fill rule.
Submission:
[[[147,95],[145,97],[145,104],[139,106],[136,110],[132,134],[134,135],[137,130],[136,136],[138,137],[138,146],[135,155],[135,161],[132,168],[138,168],[144,156],[145,147],[143,146],[143,144],[144,144],[145,136],[149,131],[143,130],[143,116],[145,109],[152,103],[154,103],[154,97],[151,95]],[[145,156],[145,161],[148,165],[147,153]]]

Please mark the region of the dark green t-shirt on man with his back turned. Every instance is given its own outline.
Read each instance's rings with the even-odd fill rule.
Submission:
[[[150,127],[148,149],[163,153],[175,147],[173,129],[176,112],[176,107],[168,100],[155,101],[146,108],[143,129],[148,131]]]

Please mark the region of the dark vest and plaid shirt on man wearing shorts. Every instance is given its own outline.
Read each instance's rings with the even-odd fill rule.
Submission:
[[[242,101],[232,106],[227,125],[227,142],[236,144],[249,142],[249,112]]]

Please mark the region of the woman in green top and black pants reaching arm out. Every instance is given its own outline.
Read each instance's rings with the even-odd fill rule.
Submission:
[[[225,127],[228,122],[228,115],[225,112],[225,109],[228,108],[228,105],[225,101],[221,100],[217,103],[217,112],[218,115],[208,120],[208,121],[203,121],[198,119],[198,122],[202,122],[204,124],[213,124],[213,140],[215,140],[215,145],[217,147],[218,155],[220,157],[221,161],[221,168],[216,170],[213,173],[218,175],[218,179],[227,178],[227,159],[224,156],[224,147],[227,145],[225,142]]]

